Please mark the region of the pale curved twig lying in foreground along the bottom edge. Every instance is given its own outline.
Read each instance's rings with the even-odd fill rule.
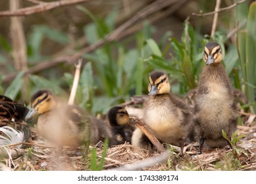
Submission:
[[[132,164],[126,164],[119,168],[113,168],[109,171],[135,171],[135,170],[143,170],[145,168],[149,168],[151,166],[155,166],[156,164],[160,164],[161,162],[165,162],[170,157],[170,152],[165,151],[163,154],[158,156],[153,156],[141,162],[136,162]]]

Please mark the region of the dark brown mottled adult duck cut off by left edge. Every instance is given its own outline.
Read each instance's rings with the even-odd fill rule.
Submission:
[[[28,108],[26,106],[0,95],[0,127],[12,127],[23,134],[22,141],[29,141],[31,138],[30,126],[24,121]],[[4,134],[0,131],[0,135]]]

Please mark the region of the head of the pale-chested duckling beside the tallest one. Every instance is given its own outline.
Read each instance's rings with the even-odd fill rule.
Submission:
[[[153,71],[149,74],[148,95],[165,94],[170,92],[168,76],[161,71]]]

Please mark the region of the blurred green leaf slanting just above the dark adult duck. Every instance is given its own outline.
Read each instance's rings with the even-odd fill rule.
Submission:
[[[23,84],[23,75],[24,72],[19,72],[16,78],[14,78],[13,82],[6,89],[5,95],[10,99],[15,99],[18,91],[20,91]]]

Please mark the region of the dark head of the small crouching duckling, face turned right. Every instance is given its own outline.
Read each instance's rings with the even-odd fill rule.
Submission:
[[[109,124],[111,126],[122,126],[129,123],[129,115],[122,106],[114,106],[108,113]]]

